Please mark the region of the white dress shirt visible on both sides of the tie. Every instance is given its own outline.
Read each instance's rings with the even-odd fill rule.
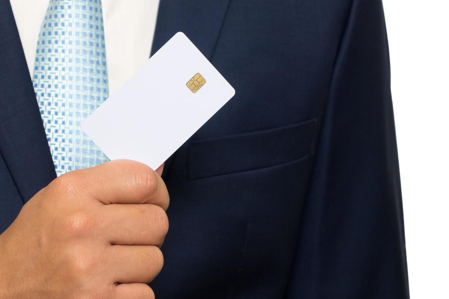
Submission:
[[[33,76],[37,39],[49,0],[10,0]],[[159,0],[102,0],[109,95],[150,57]]]

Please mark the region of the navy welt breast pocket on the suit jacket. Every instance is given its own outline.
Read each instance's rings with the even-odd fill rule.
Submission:
[[[190,143],[187,179],[207,178],[275,166],[313,152],[316,119]]]

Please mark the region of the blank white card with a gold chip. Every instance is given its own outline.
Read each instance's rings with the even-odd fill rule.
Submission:
[[[136,160],[157,169],[234,94],[178,32],[81,128],[110,160]]]

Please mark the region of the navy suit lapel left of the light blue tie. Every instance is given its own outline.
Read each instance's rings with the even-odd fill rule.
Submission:
[[[8,0],[0,11],[0,153],[26,203],[56,173]]]

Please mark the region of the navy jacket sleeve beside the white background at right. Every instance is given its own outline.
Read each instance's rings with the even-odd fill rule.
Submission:
[[[381,0],[353,0],[284,299],[409,298]]]

